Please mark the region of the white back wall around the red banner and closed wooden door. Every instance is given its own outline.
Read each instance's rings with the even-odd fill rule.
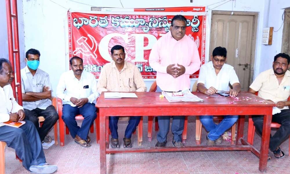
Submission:
[[[53,2],[52,2],[53,1]],[[79,1],[81,3],[77,3]],[[121,0],[124,8],[155,8],[155,7],[177,7],[177,6],[208,6],[210,4],[219,2],[221,0],[190,0],[183,1],[129,1]],[[277,22],[279,25],[282,21],[280,16],[282,15],[282,10],[280,6],[287,6],[284,4],[289,4],[289,0],[280,0],[279,3],[275,3],[275,0],[271,2],[271,21],[273,23]],[[58,4],[56,4],[56,3]],[[85,5],[85,4],[88,5]],[[248,12],[259,12],[258,16],[258,32],[256,40],[256,52],[255,52],[255,76],[264,70],[264,59],[262,58],[265,54],[264,46],[261,44],[261,33],[262,28],[265,26],[265,21],[268,9],[268,0],[236,0],[228,2],[224,5],[215,8],[214,10],[227,10],[231,11],[248,11]],[[275,5],[273,5],[275,4]],[[279,5],[280,4],[280,5]],[[209,6],[213,8],[219,4]],[[233,5],[233,6],[232,6]],[[23,1],[23,13],[24,13],[24,30],[25,30],[25,49],[29,48],[38,49],[41,53],[41,63],[39,68],[43,69],[50,74],[50,79],[52,86],[55,89],[59,80],[59,76],[68,67],[68,46],[67,46],[67,11],[90,11],[90,7],[118,7],[121,8],[121,3],[119,0],[110,1],[95,1],[95,0],[26,0]],[[273,8],[273,10],[272,10]],[[279,14],[277,14],[277,12]],[[278,18],[279,17],[279,18]],[[276,21],[275,21],[276,20]],[[269,22],[270,23],[270,22]],[[208,12],[207,18],[207,28],[206,28],[206,60],[209,59],[209,41],[210,41],[210,26],[211,26],[211,11]],[[274,28],[276,29],[276,27]],[[278,43],[278,37],[274,35],[274,39],[277,40],[272,45],[273,50],[280,50],[281,44]],[[280,37],[281,40],[281,37]],[[280,41],[281,42],[281,41]],[[278,49],[279,48],[279,49]],[[270,52],[270,51],[269,51]],[[274,53],[273,53],[274,54]],[[262,60],[262,61],[261,61]],[[260,63],[262,62],[262,63]],[[271,61],[268,62],[268,64]],[[194,80],[192,81],[192,83]],[[146,85],[150,87],[151,82],[146,82]]]

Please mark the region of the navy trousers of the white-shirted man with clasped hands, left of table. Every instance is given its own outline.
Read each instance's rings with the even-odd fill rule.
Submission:
[[[79,114],[84,117],[81,127],[79,127],[75,121],[75,116]],[[68,126],[70,135],[73,138],[78,135],[81,139],[87,139],[90,126],[97,118],[97,108],[94,103],[86,103],[81,108],[78,108],[78,106],[73,107],[69,104],[64,104],[61,118],[64,120],[66,126]]]

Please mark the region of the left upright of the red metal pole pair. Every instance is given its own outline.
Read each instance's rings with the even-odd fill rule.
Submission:
[[[6,17],[7,17],[9,61],[10,61],[11,66],[12,66],[12,70],[14,71],[13,36],[12,36],[12,20],[11,20],[11,3],[10,3],[10,0],[6,0]],[[13,89],[14,98],[16,98],[15,81],[12,82],[11,86],[12,86],[12,89]]]

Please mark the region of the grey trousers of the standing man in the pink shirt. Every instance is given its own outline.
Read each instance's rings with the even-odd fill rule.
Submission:
[[[159,86],[155,92],[162,92]],[[181,142],[181,135],[184,129],[185,116],[173,116],[171,132],[173,133],[173,139],[176,142]],[[157,133],[157,141],[165,142],[170,126],[170,116],[158,116],[159,131]]]

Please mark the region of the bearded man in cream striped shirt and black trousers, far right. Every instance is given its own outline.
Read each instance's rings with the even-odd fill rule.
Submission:
[[[284,152],[280,149],[280,144],[289,137],[290,134],[290,102],[287,101],[290,95],[290,57],[285,53],[279,53],[274,57],[273,68],[260,73],[253,81],[249,92],[276,103],[276,107],[281,111],[272,116],[272,121],[281,124],[278,131],[270,137],[269,149],[276,158],[283,158]],[[258,133],[262,135],[263,120],[262,115],[252,117]],[[270,158],[270,157],[269,157]]]

